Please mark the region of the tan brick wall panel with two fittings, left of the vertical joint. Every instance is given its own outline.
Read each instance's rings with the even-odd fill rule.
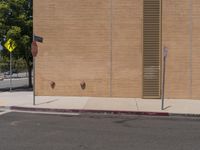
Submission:
[[[34,32],[44,37],[36,60],[36,94],[109,96],[108,0],[34,0],[34,12]],[[50,80],[56,83],[53,90]]]

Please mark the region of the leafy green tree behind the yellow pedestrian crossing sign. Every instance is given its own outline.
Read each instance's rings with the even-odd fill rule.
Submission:
[[[24,59],[29,73],[29,87],[32,87],[31,72],[33,58],[31,42],[33,35],[32,0],[0,0],[0,42],[4,45],[7,39],[16,41],[17,47],[12,52],[15,59]],[[9,57],[4,48],[2,56]]]

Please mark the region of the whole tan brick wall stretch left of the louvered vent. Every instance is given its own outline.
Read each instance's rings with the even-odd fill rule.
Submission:
[[[141,0],[35,0],[36,94],[141,97],[141,24]]]

